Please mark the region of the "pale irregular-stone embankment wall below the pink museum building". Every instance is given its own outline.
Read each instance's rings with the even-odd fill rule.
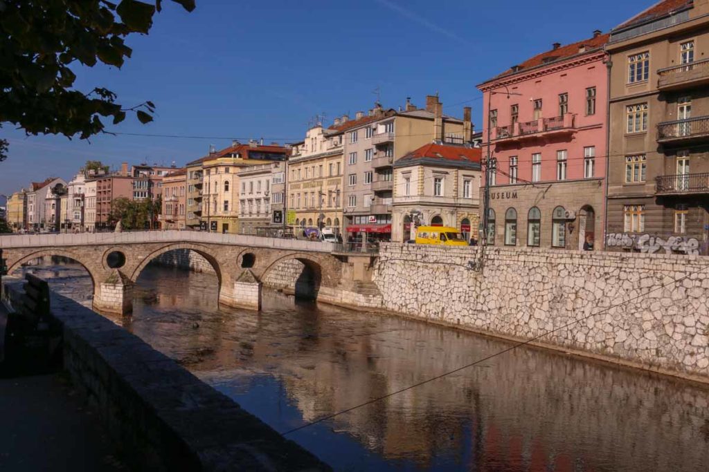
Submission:
[[[481,273],[479,251],[382,245],[384,308],[518,340],[559,329],[540,344],[709,380],[709,258],[488,248]]]

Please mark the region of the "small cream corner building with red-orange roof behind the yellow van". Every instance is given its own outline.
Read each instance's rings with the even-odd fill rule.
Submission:
[[[393,165],[392,238],[415,238],[417,226],[452,226],[469,240],[480,207],[481,150],[471,144],[425,144]],[[367,227],[364,227],[367,230]]]

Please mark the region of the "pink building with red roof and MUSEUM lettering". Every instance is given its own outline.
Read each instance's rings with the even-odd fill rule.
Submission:
[[[554,43],[480,84],[491,175],[489,243],[584,249],[603,241],[608,35]],[[487,116],[487,115],[484,115]],[[488,134],[489,133],[489,134]]]

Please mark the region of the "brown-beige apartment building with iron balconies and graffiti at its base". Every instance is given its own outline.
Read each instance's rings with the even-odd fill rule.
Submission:
[[[666,0],[613,29],[609,250],[707,253],[709,1]]]

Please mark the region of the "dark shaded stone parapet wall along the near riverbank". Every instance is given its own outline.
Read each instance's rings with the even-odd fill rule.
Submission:
[[[22,282],[4,281],[12,304]],[[52,293],[64,367],[131,467],[150,471],[329,471],[135,335]]]

